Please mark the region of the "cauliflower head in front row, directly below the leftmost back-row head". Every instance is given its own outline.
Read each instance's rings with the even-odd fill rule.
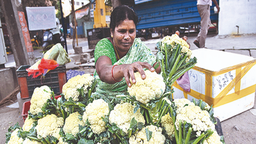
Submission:
[[[60,128],[64,124],[64,119],[62,117],[57,117],[54,114],[46,115],[38,120],[38,124],[35,129],[37,131],[37,137],[46,138],[46,136],[54,136],[55,138],[60,138]]]

